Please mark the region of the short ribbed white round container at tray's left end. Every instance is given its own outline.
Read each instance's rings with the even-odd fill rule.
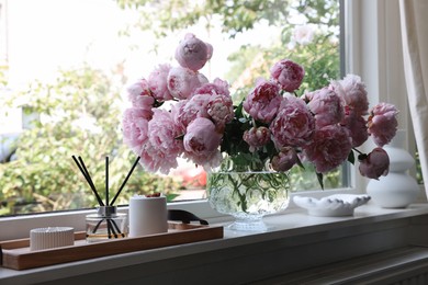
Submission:
[[[44,250],[75,244],[75,229],[48,227],[30,230],[30,250]]]

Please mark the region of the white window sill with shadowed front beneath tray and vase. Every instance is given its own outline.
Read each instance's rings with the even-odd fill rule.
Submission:
[[[212,225],[228,224],[225,217],[210,221]],[[26,271],[0,267],[0,281],[1,284],[25,284],[57,283],[65,278],[66,283],[75,284],[126,281],[191,284],[211,273],[213,284],[236,283],[408,244],[428,246],[428,204],[383,209],[369,203],[358,207],[351,217],[313,217],[301,209],[289,209],[266,217],[264,221],[272,228],[268,232],[239,232],[225,228],[224,239],[218,240]],[[229,274],[232,269],[237,270],[234,276]]]

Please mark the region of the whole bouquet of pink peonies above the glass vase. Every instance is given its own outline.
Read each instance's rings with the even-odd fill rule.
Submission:
[[[124,141],[145,170],[168,173],[179,157],[210,170],[227,156],[243,170],[285,172],[307,161],[319,179],[346,160],[353,163],[356,151],[362,175],[387,174],[382,147],[395,136],[398,111],[387,103],[369,111],[358,76],[297,96],[304,68],[283,59],[234,105],[226,81],[210,82],[199,72],[212,54],[210,44],[188,34],[176,49],[179,66],[160,65],[127,88],[132,106],[123,116]],[[369,137],[378,147],[361,153],[357,147]]]

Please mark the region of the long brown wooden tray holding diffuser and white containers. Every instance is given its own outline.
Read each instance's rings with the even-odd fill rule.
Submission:
[[[75,233],[75,246],[30,251],[30,239],[0,242],[1,266],[26,270],[133,251],[164,248],[223,238],[223,227],[169,223],[165,233],[86,243],[86,233]]]

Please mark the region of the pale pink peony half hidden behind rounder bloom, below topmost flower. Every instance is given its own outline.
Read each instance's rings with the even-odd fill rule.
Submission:
[[[148,87],[153,92],[153,96],[160,102],[173,99],[168,89],[169,70],[171,70],[170,65],[159,65],[148,76]]]

